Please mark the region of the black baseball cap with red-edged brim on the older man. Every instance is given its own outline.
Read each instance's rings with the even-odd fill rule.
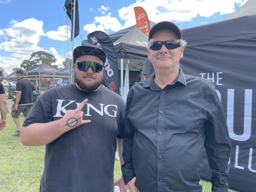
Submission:
[[[182,31],[180,30],[180,28],[178,28],[178,26],[176,26],[173,22],[170,22],[170,21],[161,21],[157,24],[155,24],[149,31],[148,33],[148,41],[151,39],[152,35],[157,31],[157,30],[160,30],[160,29],[163,29],[163,28],[167,28],[167,29],[171,29],[173,30],[176,35],[178,35],[178,37],[180,39],[182,39]]]

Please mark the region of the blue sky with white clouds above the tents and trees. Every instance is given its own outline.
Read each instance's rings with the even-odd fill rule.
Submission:
[[[149,20],[170,20],[181,29],[219,21],[247,0],[78,0],[80,35],[107,34],[135,23],[133,7],[143,7]],[[33,52],[53,54],[62,66],[65,46],[65,0],[0,0],[0,67],[11,73]],[[156,4],[157,2],[157,4]],[[75,46],[80,45],[80,35]],[[8,41],[9,40],[9,41]]]

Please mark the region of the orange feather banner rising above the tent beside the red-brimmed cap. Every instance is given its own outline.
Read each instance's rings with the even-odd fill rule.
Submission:
[[[134,7],[134,13],[137,28],[148,35],[150,26],[146,11],[142,7]]]

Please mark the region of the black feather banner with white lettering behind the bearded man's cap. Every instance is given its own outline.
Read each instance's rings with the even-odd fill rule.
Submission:
[[[90,44],[94,44],[106,52],[107,59],[104,64],[103,80],[108,89],[120,94],[117,55],[113,42],[108,35],[102,31],[90,33],[87,39]]]

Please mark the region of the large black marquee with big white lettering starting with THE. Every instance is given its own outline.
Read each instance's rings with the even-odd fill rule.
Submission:
[[[240,9],[219,22],[182,30],[188,46],[180,65],[186,74],[215,83],[232,143],[229,187],[252,192],[256,188],[255,2],[248,0]],[[209,180],[206,153],[203,166],[201,177]]]

